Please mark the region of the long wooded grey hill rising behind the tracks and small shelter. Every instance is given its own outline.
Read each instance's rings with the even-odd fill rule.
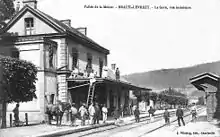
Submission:
[[[134,84],[152,88],[154,90],[172,87],[182,89],[186,91],[187,94],[193,94],[193,96],[197,96],[198,94],[200,96],[200,94],[203,94],[198,92],[189,83],[189,78],[204,72],[212,72],[220,75],[220,61],[185,68],[161,69],[143,73],[133,73],[123,77]]]

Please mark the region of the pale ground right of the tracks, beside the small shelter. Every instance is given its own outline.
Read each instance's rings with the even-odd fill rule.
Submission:
[[[185,118],[190,121],[191,117]],[[177,122],[172,123],[158,131],[146,135],[146,137],[157,137],[166,135],[169,137],[220,137],[220,127],[212,122],[208,122],[206,118],[206,111],[200,113],[196,122],[189,122],[185,126],[179,127]]]

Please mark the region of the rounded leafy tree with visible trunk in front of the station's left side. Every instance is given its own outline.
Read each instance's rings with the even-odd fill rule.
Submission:
[[[27,102],[37,98],[35,83],[37,67],[27,61],[10,57],[1,57],[3,119],[2,128],[6,127],[6,104],[12,102]]]

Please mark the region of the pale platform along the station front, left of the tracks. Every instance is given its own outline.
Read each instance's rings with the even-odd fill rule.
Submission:
[[[175,111],[175,109],[170,110]],[[157,110],[155,114],[163,113],[164,110]],[[148,113],[142,113],[140,117],[147,117]],[[128,116],[124,117],[122,119],[125,123],[129,122],[131,120],[134,120],[134,116]],[[88,122],[86,122],[88,124]],[[77,127],[71,127],[69,126],[70,123],[63,123],[63,126],[56,126],[56,125],[47,125],[47,124],[40,124],[40,125],[34,125],[34,126],[24,126],[24,127],[13,127],[13,128],[7,128],[7,129],[0,129],[0,137],[25,137],[25,136],[46,136],[47,134],[55,134],[55,133],[62,133],[62,132],[70,132],[73,130],[89,130],[91,128],[97,128],[100,126],[107,126],[110,124],[114,124],[113,118],[109,118],[107,121],[107,124],[102,124],[102,121],[100,121],[101,124],[91,126],[80,126],[80,120],[77,120]],[[50,135],[50,136],[51,136]]]

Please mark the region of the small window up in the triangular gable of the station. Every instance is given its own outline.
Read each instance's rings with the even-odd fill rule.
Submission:
[[[25,34],[32,35],[34,34],[34,18],[25,18]]]

